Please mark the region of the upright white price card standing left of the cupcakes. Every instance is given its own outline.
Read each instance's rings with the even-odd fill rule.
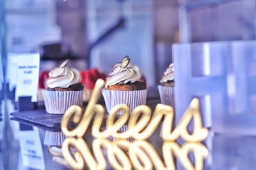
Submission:
[[[31,96],[31,102],[37,102],[39,65],[40,55],[38,53],[19,54],[16,101],[21,96]]]

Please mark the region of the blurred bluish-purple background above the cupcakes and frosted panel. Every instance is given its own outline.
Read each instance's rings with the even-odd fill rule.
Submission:
[[[4,59],[40,52],[41,71],[68,58],[79,70],[108,73],[129,55],[150,86],[172,62],[173,43],[254,40],[256,33],[255,0],[1,1]]]

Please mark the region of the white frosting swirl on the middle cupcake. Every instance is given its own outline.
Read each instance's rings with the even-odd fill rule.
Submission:
[[[125,68],[121,67],[122,63],[117,63],[106,78],[105,88],[115,84],[126,84],[127,82],[136,82],[141,78],[140,68],[129,63]]]

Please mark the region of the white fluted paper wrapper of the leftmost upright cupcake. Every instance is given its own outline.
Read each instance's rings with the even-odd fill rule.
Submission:
[[[46,112],[64,114],[72,105],[83,106],[83,90],[81,91],[49,91],[42,90]]]

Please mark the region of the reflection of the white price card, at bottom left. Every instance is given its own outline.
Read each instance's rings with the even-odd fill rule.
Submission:
[[[45,169],[44,154],[38,128],[20,130],[20,153],[24,166],[33,169]]]

